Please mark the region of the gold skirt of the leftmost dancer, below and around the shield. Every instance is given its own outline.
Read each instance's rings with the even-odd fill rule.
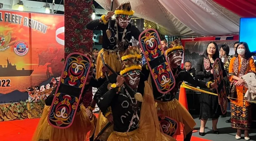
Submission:
[[[52,127],[48,121],[48,113],[51,106],[45,106],[39,124],[32,138],[32,141],[86,141],[94,132],[94,116],[92,121],[86,115],[85,106],[81,105],[81,110],[76,113],[73,124],[66,129]],[[90,132],[90,135],[87,133]]]

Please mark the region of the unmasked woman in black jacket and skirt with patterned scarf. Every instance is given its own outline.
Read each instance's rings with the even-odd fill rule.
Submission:
[[[215,59],[219,58],[219,49],[215,42],[210,42],[205,51],[204,55],[199,58],[196,66],[196,76],[204,81],[214,81],[213,76],[213,63]],[[221,68],[224,70],[223,63],[221,63]],[[227,76],[226,72],[223,71],[223,77]],[[216,89],[204,89],[202,90],[209,91],[212,93],[217,93]],[[199,119],[201,119],[201,127],[199,131],[199,135],[204,136],[204,128],[206,125],[206,122],[208,120],[211,120],[213,122],[213,133],[219,134],[219,131],[217,130],[217,122],[221,115],[221,108],[219,105],[219,99],[218,96],[207,94],[207,93],[201,93],[201,99],[200,99],[200,115]]]

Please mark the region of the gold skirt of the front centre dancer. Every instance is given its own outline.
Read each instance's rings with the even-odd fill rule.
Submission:
[[[145,82],[139,128],[125,133],[112,132],[107,141],[176,141],[161,133],[150,85]]]

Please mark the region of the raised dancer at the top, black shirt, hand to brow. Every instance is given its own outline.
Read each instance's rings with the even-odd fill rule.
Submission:
[[[116,11],[109,11],[107,15],[101,16],[100,19],[95,19],[86,25],[89,30],[102,30],[103,44],[99,51],[103,53],[105,63],[107,63],[114,71],[119,72],[122,69],[121,57],[124,51],[128,48],[131,37],[136,40],[140,35],[139,29],[130,24],[130,18],[133,16],[134,11],[130,6],[130,2],[126,2],[117,7]],[[116,19],[111,20],[111,17],[115,14]],[[108,22],[111,20],[111,37],[107,38],[106,30],[108,29]],[[101,62],[100,55],[97,58],[97,73],[96,78],[103,76],[101,68],[103,63]]]

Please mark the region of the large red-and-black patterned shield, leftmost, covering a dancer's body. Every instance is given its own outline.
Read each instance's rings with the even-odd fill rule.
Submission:
[[[91,61],[86,55],[81,53],[68,55],[48,115],[48,122],[53,127],[71,126],[90,68]]]

